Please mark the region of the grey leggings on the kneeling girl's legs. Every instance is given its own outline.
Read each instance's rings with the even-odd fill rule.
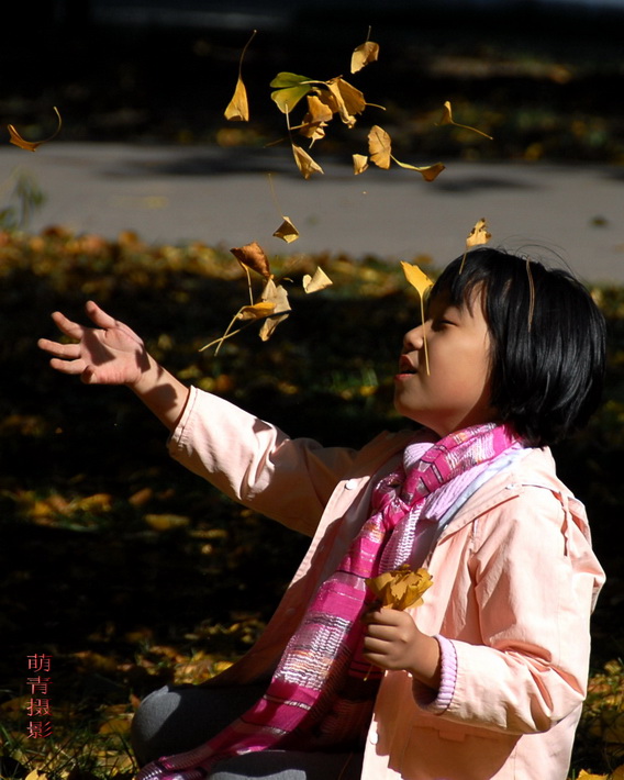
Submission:
[[[266,686],[199,688],[165,686],[145,697],[132,722],[132,747],[141,766],[185,753],[219,734],[248,710]],[[207,780],[359,780],[360,753],[263,750],[221,761]]]

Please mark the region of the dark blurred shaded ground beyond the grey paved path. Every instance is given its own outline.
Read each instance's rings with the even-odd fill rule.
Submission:
[[[406,151],[624,159],[621,0],[41,0],[36,11],[11,3],[3,19],[0,115],[31,137],[55,126],[58,105],[63,141],[263,144],[283,129],[269,99],[276,73],[347,77],[370,26],[382,59],[356,86],[382,102]],[[224,129],[254,29],[244,66],[254,126]],[[494,141],[420,133],[441,96]],[[339,152],[345,132],[325,146]]]

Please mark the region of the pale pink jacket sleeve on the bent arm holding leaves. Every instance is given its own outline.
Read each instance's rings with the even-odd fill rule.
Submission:
[[[442,717],[545,732],[584,699],[602,569],[567,500],[539,487],[478,519],[472,544],[467,609],[481,636],[453,638],[455,690]]]

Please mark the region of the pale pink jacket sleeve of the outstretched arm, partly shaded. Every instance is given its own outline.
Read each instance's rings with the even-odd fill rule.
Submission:
[[[230,498],[309,536],[357,454],[291,439],[197,388],[168,446],[172,458]]]

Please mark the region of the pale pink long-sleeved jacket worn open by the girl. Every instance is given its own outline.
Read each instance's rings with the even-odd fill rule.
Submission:
[[[199,390],[174,432],[174,458],[220,490],[312,536],[259,642],[215,682],[268,675],[316,586],[368,515],[376,480],[413,432],[361,450],[289,439]],[[406,672],[387,672],[363,780],[565,780],[586,695],[589,619],[604,580],[582,505],[557,479],[548,449],[492,477],[443,531],[425,564],[434,587],[419,627],[457,656],[441,711]]]

